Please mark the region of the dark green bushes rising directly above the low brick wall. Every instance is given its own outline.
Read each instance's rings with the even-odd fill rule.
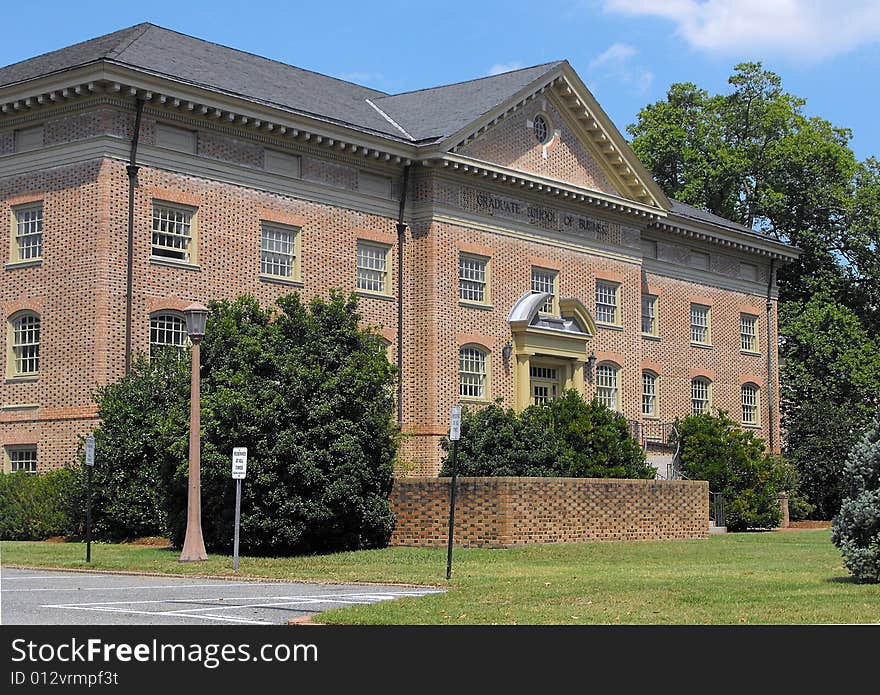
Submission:
[[[441,475],[451,474],[447,452]],[[466,476],[653,478],[655,470],[629,433],[626,419],[597,401],[567,391],[521,413],[492,404],[462,410],[458,472]]]

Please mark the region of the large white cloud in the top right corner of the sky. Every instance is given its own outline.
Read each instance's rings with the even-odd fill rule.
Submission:
[[[818,61],[880,40],[877,0],[600,0],[612,14],[660,17],[695,48]]]

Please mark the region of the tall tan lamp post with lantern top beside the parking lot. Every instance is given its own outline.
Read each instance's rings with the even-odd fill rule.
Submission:
[[[189,407],[189,480],[187,484],[186,536],[180,562],[200,562],[208,559],[205,540],[202,537],[202,481],[201,481],[201,341],[205,336],[208,308],[190,304],[183,310],[186,316],[186,332],[192,342],[192,370],[190,375]]]

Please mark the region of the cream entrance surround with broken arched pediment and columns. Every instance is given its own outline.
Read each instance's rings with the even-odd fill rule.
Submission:
[[[542,312],[550,297],[548,292],[526,292],[507,317],[517,410],[555,398],[563,390],[584,393],[584,367],[596,322],[575,298],[559,300],[559,316]]]

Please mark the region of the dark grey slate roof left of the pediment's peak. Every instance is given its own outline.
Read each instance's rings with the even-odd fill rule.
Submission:
[[[138,24],[0,68],[0,87],[106,61],[401,140],[442,140],[559,63],[388,95],[153,24]]]

